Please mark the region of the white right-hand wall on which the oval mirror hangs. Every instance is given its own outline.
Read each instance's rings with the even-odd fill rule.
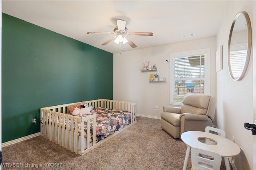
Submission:
[[[236,144],[244,150],[244,157],[235,158],[236,168],[252,169],[253,135],[244,128],[244,123],[253,122],[253,54],[245,77],[233,81],[228,71],[228,37],[234,17],[238,12],[246,11],[253,20],[253,1],[233,1],[223,18],[217,35],[216,46],[223,45],[223,70],[217,73],[217,127],[226,132],[226,138],[235,138]],[[254,21],[254,23],[253,23]],[[255,34],[255,33],[254,33]],[[255,145],[255,144],[254,144]],[[250,166],[250,167],[249,167]]]

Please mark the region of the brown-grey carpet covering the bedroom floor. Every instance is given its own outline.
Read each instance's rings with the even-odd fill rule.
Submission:
[[[2,163],[21,163],[22,169],[181,170],[186,144],[164,132],[160,128],[160,120],[138,117],[137,123],[84,156],[41,136],[6,146],[2,152]],[[45,167],[49,163],[61,164],[61,167]],[[36,165],[39,168],[28,167]],[[187,169],[190,168],[189,158]],[[222,162],[221,170],[225,169]]]

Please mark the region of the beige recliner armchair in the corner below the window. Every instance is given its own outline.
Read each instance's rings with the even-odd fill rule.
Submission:
[[[164,106],[161,113],[161,128],[174,138],[190,130],[205,131],[212,126],[216,98],[209,95],[188,94],[181,107]]]

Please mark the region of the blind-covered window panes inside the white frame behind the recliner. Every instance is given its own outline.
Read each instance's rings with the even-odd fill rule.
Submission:
[[[205,83],[206,54],[173,57],[173,102],[182,102],[187,93],[205,94]]]

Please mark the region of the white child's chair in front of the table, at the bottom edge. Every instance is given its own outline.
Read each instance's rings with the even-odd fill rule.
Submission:
[[[209,158],[204,158],[201,155],[207,155]],[[219,170],[221,160],[221,156],[216,152],[191,148],[191,170]]]

